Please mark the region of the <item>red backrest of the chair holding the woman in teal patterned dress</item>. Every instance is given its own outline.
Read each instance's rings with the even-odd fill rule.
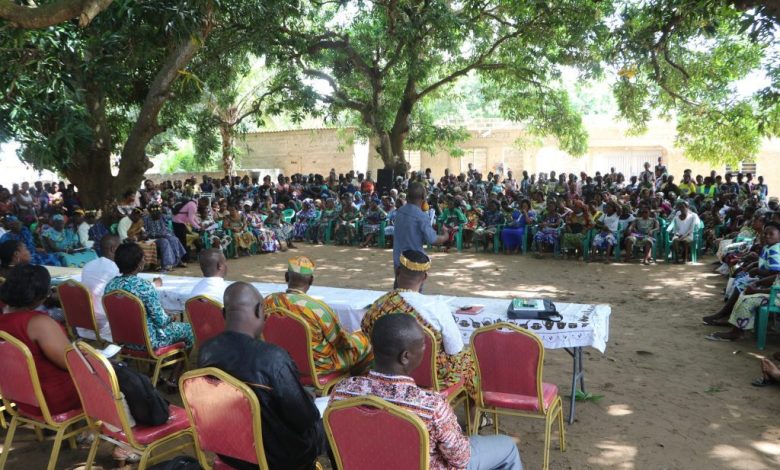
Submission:
[[[111,336],[117,344],[141,344],[149,347],[146,308],[141,299],[129,292],[115,290],[103,296]]]

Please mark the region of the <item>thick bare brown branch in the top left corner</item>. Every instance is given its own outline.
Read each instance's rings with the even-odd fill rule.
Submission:
[[[109,5],[111,0],[60,0],[26,7],[12,0],[0,0],[0,19],[16,28],[43,29],[78,17],[79,26],[83,28]]]

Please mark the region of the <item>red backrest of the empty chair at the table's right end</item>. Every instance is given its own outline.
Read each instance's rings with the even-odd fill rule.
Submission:
[[[544,345],[538,336],[511,323],[496,323],[476,330],[471,347],[477,360],[480,402],[483,392],[500,392],[536,397],[539,409],[544,409]]]

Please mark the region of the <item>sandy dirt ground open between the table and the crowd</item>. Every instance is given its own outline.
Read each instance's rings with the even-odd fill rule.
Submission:
[[[300,245],[293,254],[318,264],[320,285],[389,289],[389,250]],[[233,280],[282,282],[285,254],[230,262]],[[602,395],[578,402],[566,428],[568,449],[553,441],[551,469],[733,469],[780,468],[780,387],[755,388],[759,362],[752,336],[713,343],[714,328],[701,316],[722,305],[724,280],[711,273],[711,257],[695,266],[533,259],[530,256],[433,253],[426,293],[605,303],[612,307],[605,354],[585,351],[586,387]],[[172,274],[200,275],[194,265]],[[766,353],[780,350],[771,337]],[[570,390],[571,359],[562,350],[546,355],[545,381]],[[172,401],[176,401],[173,397]],[[568,399],[564,399],[568,410]],[[501,431],[519,442],[526,469],[542,465],[543,421],[502,418]],[[5,432],[2,432],[5,436]],[[43,469],[51,443],[31,431],[17,433],[9,469]],[[98,464],[112,468],[103,445]],[[65,449],[57,468],[81,468],[87,451]]]

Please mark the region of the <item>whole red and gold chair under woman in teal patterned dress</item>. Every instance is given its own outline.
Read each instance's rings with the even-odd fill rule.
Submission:
[[[161,348],[153,348],[149,340],[146,323],[146,307],[141,299],[133,294],[115,290],[103,296],[103,309],[111,325],[114,343],[122,345],[121,356],[124,359],[147,362],[154,365],[152,385],[157,386],[160,371],[179,362],[187,367],[187,350],[184,342],[174,343]],[[124,347],[126,344],[140,344],[145,350]]]

